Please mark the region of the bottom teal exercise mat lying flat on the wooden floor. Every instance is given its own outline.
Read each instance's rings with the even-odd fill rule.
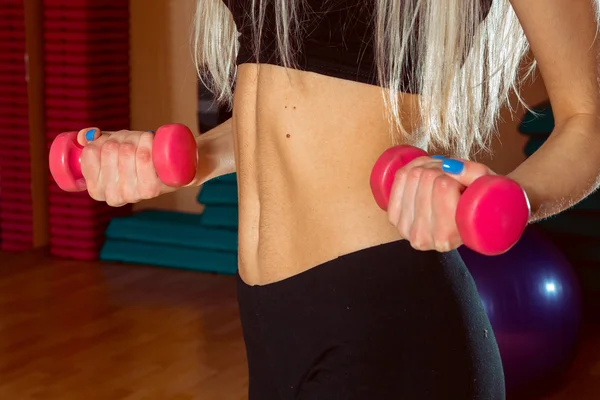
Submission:
[[[224,275],[233,275],[237,271],[237,254],[119,239],[105,242],[100,259]]]

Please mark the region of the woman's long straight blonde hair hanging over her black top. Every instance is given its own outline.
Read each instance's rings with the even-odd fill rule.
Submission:
[[[487,0],[492,4],[485,19],[482,0],[365,1],[375,5],[372,39],[394,142],[464,158],[488,149],[500,108],[517,92],[519,77],[534,68],[532,62],[525,74],[519,71],[529,46],[509,0]],[[256,54],[267,3],[273,3],[279,55],[293,67],[304,1],[250,2]],[[218,101],[231,104],[238,33],[223,0],[198,0],[193,45],[203,83]],[[409,53],[419,55],[411,86],[420,94],[420,124],[410,136],[400,115]]]

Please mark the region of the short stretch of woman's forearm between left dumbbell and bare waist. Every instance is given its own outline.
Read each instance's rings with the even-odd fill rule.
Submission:
[[[195,185],[236,171],[231,118],[196,138],[198,171]]]

